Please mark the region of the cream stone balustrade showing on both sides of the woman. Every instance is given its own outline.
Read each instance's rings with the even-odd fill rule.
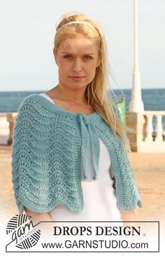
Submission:
[[[16,116],[17,112],[0,113],[0,144],[12,143]],[[163,116],[165,117],[165,111],[127,112],[127,126],[136,130],[136,132],[128,134],[131,151],[165,151]]]

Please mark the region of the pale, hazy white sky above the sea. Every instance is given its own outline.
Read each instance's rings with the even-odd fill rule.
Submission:
[[[53,39],[57,22],[68,11],[85,13],[99,22],[108,44],[110,86],[131,89],[134,0],[3,0],[0,91],[47,91],[58,84]],[[141,88],[165,88],[164,13],[164,0],[138,0]]]

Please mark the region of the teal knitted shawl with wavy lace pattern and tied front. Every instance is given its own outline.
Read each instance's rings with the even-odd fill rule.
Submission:
[[[87,179],[89,150],[98,177],[99,138],[110,154],[116,182],[117,208],[142,207],[127,151],[122,141],[97,113],[67,112],[45,97],[26,97],[13,130],[12,175],[17,207],[46,213],[58,204],[73,213],[83,208],[81,188]],[[80,160],[81,159],[81,160]],[[81,163],[80,163],[81,161]]]

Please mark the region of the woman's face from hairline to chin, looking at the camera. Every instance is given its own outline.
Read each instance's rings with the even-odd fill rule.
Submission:
[[[86,88],[99,66],[99,53],[92,41],[78,34],[63,41],[55,53],[59,84],[69,88]]]

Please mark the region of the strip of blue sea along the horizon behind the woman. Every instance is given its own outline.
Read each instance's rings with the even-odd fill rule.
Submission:
[[[25,97],[34,93],[45,93],[45,91],[30,90],[0,92],[0,112],[17,112],[18,107]],[[122,95],[124,95],[126,100],[126,112],[128,112],[129,102],[131,100],[131,90],[123,89],[113,91],[118,101],[120,101],[122,99]],[[145,110],[165,111],[165,88],[142,89],[142,100]],[[165,130],[165,116],[163,116],[162,123]]]

